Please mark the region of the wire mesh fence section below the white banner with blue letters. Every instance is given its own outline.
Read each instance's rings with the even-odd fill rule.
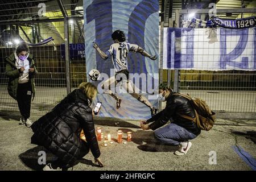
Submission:
[[[183,71],[180,92],[203,98],[216,112],[256,113],[256,72]]]

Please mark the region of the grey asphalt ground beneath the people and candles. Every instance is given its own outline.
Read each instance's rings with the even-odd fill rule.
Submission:
[[[32,115],[36,121],[40,115]],[[32,130],[18,125],[19,114],[0,112],[0,170],[40,170],[39,151],[43,147],[31,144]],[[102,133],[112,135],[112,144],[99,142],[100,168],[94,164],[89,152],[77,162],[73,170],[256,170],[256,121],[217,119],[210,131],[202,131],[191,140],[187,155],[176,156],[175,146],[156,143],[152,130],[143,131],[139,121],[94,121],[102,127]],[[117,143],[117,131],[123,130],[123,142]],[[126,142],[127,131],[132,132],[132,141]],[[46,151],[47,162],[54,156]]]

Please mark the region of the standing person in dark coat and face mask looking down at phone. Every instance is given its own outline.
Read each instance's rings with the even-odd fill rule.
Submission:
[[[19,106],[22,117],[19,124],[31,127],[31,98],[35,97],[34,75],[37,73],[33,56],[26,43],[21,43],[16,51],[6,57],[6,76],[9,77],[8,93]]]

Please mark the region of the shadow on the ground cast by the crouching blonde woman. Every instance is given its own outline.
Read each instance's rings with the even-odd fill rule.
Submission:
[[[39,162],[42,161],[42,160],[40,160],[40,156],[42,156],[42,154],[40,155],[39,151],[46,152],[46,164],[51,163],[57,159],[55,155],[53,155],[51,152],[47,151],[46,148],[44,148],[42,146],[36,146],[34,148],[27,150],[26,152],[19,155],[19,159],[22,161],[22,163],[25,166],[27,166],[33,170],[42,171],[42,169],[45,165],[39,164]],[[79,163],[86,164],[88,166],[98,166],[98,165],[94,164],[92,162],[92,160],[87,160],[84,158],[77,160],[76,163],[74,164],[74,166],[76,166]]]

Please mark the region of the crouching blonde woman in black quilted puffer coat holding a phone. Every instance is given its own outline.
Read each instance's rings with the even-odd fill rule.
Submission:
[[[58,158],[43,170],[72,167],[89,150],[95,162],[103,167],[90,108],[96,95],[96,86],[82,82],[79,89],[68,94],[52,111],[33,123],[31,143],[46,147]],[[84,130],[86,142],[80,139],[81,130]]]

